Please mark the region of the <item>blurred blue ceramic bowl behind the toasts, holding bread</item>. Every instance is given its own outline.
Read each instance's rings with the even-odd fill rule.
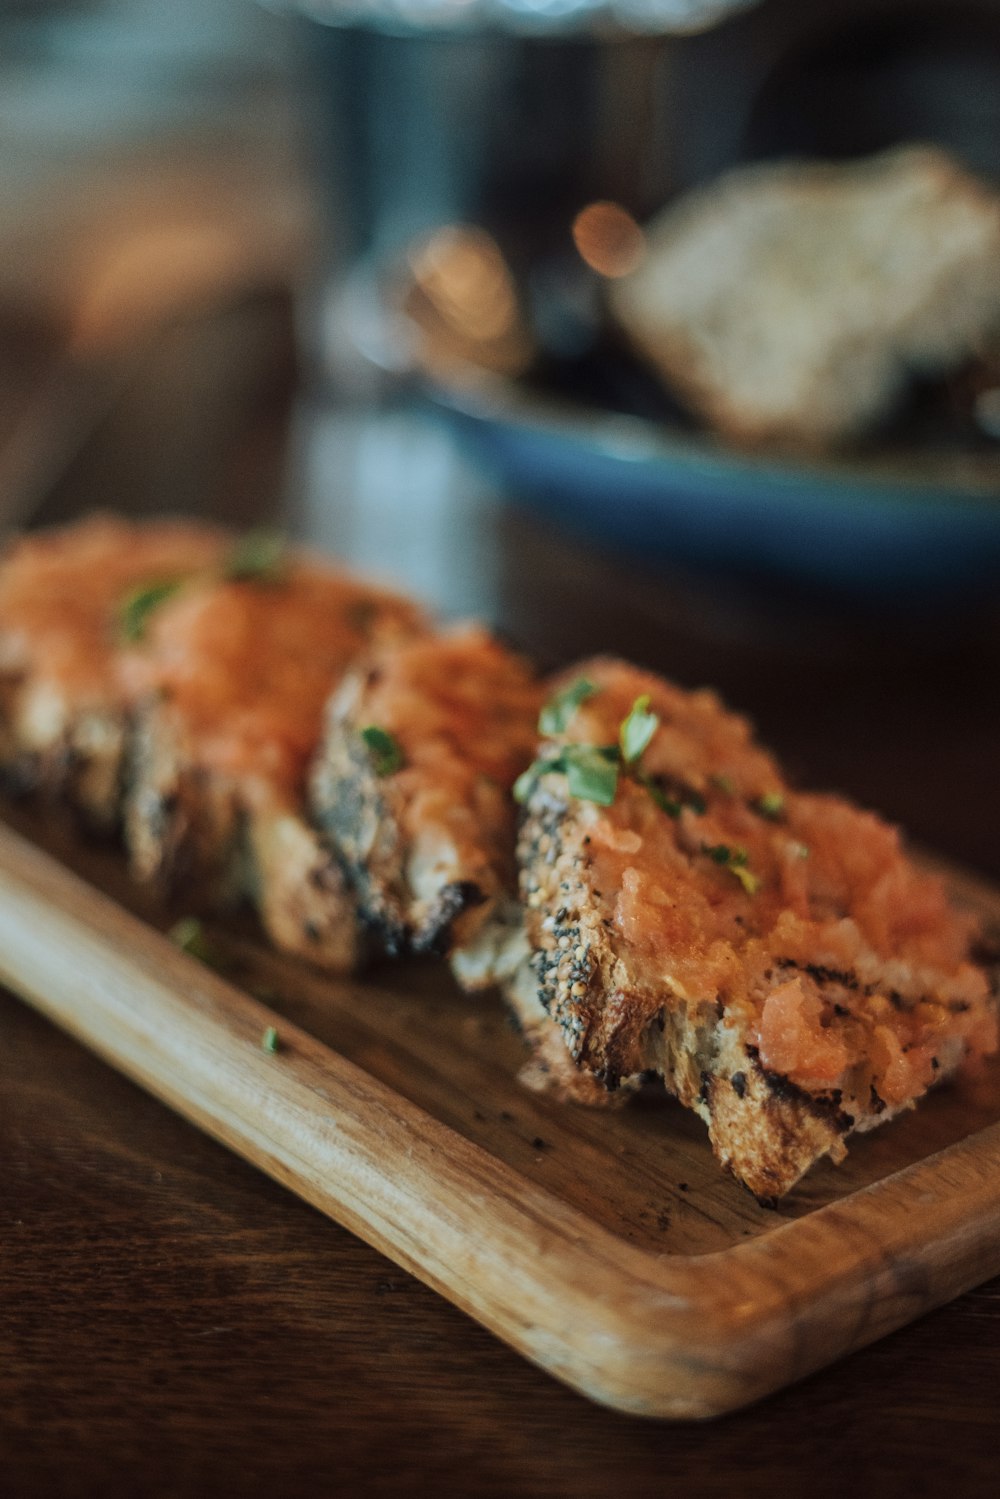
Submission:
[[[979,598],[1000,579],[1000,451],[780,460],[502,381],[429,397],[513,499],[652,565],[886,603]]]

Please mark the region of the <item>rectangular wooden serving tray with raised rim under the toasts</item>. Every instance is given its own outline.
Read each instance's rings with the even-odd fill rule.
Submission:
[[[526,1093],[499,1003],[441,967],[330,980],[220,925],[222,977],[162,934],[114,851],[4,818],[4,983],[595,1400],[726,1412],[1000,1271],[1000,1067],[768,1211],[666,1097],[589,1112]],[[952,883],[1000,920],[1000,893]]]

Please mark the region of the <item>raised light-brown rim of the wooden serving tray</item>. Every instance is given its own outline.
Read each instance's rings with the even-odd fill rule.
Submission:
[[[709,1417],[1000,1271],[1000,1124],[766,1237],[658,1256],[454,1135],[0,827],[0,977],[525,1357]],[[268,1025],[280,1049],[261,1048]]]

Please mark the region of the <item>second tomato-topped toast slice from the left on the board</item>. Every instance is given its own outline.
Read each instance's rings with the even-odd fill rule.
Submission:
[[[363,952],[357,902],[306,818],[306,767],[354,657],[423,615],[300,555],[223,571],[163,600],[123,661],[132,866],[196,904],[249,896],[280,947],[345,971]]]

